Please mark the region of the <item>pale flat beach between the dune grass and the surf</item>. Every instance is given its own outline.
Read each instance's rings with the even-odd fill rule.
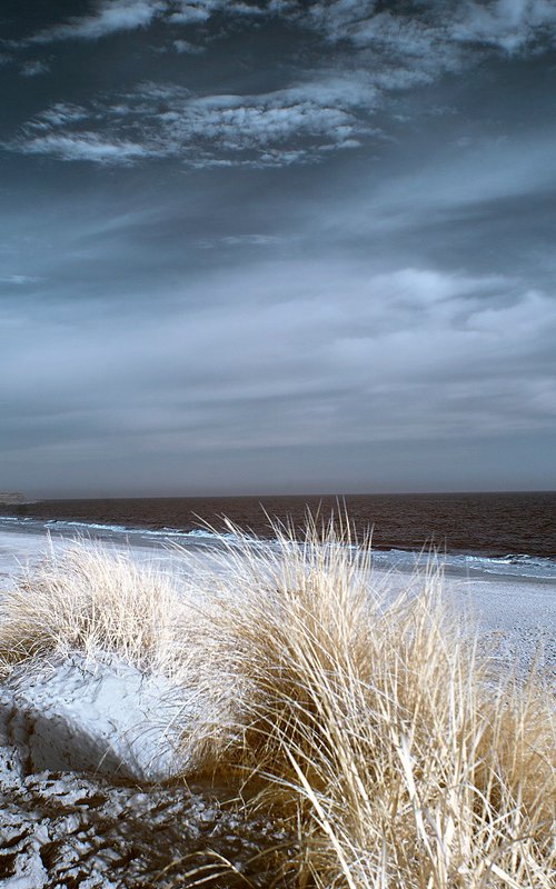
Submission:
[[[0,520],[0,578],[10,582],[26,565],[37,562],[53,547],[62,550],[68,541],[80,539],[91,545],[101,541],[111,548],[130,552],[138,562],[153,561],[168,570],[180,571],[183,560],[176,547],[195,551],[207,563],[222,542],[207,530],[188,533],[152,531],[146,528],[115,529],[113,526],[85,521]],[[234,546],[231,535],[225,542]],[[259,545],[257,545],[259,546]],[[260,546],[272,546],[260,541]],[[499,656],[509,663],[515,658],[524,670],[540,651],[549,669],[556,666],[556,563],[548,559],[516,563],[509,559],[485,559],[475,556],[438,556],[444,566],[444,589],[451,606],[467,620],[476,622],[479,633],[495,642]],[[417,551],[377,550],[374,576],[378,585],[403,588],[416,566],[421,568],[427,556]]]

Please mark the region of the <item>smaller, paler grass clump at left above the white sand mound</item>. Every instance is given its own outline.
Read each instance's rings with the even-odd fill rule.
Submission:
[[[0,597],[0,671],[27,660],[109,652],[172,671],[186,626],[176,580],[129,553],[76,542],[53,550]]]

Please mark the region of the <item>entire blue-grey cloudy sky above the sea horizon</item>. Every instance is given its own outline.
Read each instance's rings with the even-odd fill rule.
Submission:
[[[2,0],[0,490],[556,488],[554,0]]]

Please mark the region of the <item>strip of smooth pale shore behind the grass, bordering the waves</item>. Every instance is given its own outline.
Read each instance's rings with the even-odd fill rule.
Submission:
[[[168,535],[149,537],[141,531],[131,536],[126,532],[100,533],[95,529],[89,536],[79,535],[76,528],[66,530],[43,529],[37,531],[29,527],[8,530],[0,527],[0,593],[1,587],[20,575],[26,565],[33,565],[44,555],[49,546],[62,551],[71,542],[86,546],[101,546],[110,550],[131,555],[138,562],[156,562],[165,571],[179,573],[182,570],[179,549],[195,551],[200,561],[214,567],[216,559],[234,541],[218,542],[217,538],[188,537],[176,540]],[[255,551],[270,545],[270,541],[254,541]],[[373,560],[373,582],[378,588],[388,586],[394,592],[408,586],[408,580],[426,568],[427,561],[419,553],[409,553],[401,562],[387,559]],[[535,578],[510,572],[504,573],[499,566],[497,573],[475,569],[471,572],[446,567],[443,559],[443,590],[450,608],[460,613],[471,627],[476,626],[483,643],[496,649],[495,658],[507,666],[515,661],[519,672],[524,672],[543,649],[548,670],[556,670],[556,586],[552,578]]]

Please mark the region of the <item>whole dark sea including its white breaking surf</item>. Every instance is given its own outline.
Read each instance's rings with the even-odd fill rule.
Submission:
[[[241,529],[272,546],[277,522],[301,539],[308,515],[317,527],[349,517],[378,568],[409,571],[436,552],[448,573],[556,583],[556,491],[41,500],[0,507],[0,530],[210,548]]]

